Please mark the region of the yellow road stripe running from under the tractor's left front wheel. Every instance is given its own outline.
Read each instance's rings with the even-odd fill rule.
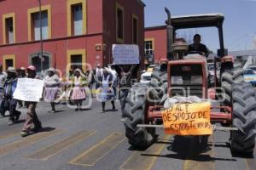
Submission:
[[[170,139],[170,135],[165,135],[163,139]],[[138,170],[149,170],[153,167],[154,162],[156,161],[157,156],[164,149],[166,144],[163,143],[155,143],[151,145],[148,150],[145,151],[134,151],[134,153],[121,165],[120,169],[128,170],[128,169],[138,169]],[[143,156],[148,155],[148,156]],[[154,156],[150,156],[154,155]]]

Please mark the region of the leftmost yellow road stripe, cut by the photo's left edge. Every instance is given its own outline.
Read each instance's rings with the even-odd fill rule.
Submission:
[[[35,133],[35,134],[32,134],[25,138],[18,139],[13,143],[4,144],[4,145],[0,146],[0,156],[9,154],[10,152],[12,152],[14,150],[24,148],[27,145],[34,144],[41,139],[48,138],[50,136],[53,136],[53,135],[55,135],[57,133],[61,133],[61,132],[62,132],[62,130],[52,130],[50,132]]]

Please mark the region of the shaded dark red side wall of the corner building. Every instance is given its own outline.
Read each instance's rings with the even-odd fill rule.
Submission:
[[[108,56],[111,55],[112,44],[119,43],[116,42],[116,13],[115,13],[115,4],[119,3],[124,7],[124,20],[125,20],[125,36],[124,43],[132,43],[132,14],[136,14],[138,17],[138,45],[140,48],[140,56],[142,61],[144,58],[144,6],[137,2],[137,0],[103,0],[103,27],[104,27],[104,36],[103,42],[107,44],[107,50],[104,52],[104,55],[107,56],[106,59],[109,59]],[[109,5],[110,4],[110,5]]]

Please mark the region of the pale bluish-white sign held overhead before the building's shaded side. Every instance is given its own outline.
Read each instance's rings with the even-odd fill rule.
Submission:
[[[139,48],[137,45],[113,44],[113,64],[133,65],[139,64]]]

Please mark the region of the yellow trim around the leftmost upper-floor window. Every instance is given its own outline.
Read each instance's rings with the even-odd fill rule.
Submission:
[[[15,19],[15,13],[3,14],[3,44],[7,43],[5,20],[8,19],[8,18],[12,18],[13,19],[14,43],[16,42],[16,19]]]

